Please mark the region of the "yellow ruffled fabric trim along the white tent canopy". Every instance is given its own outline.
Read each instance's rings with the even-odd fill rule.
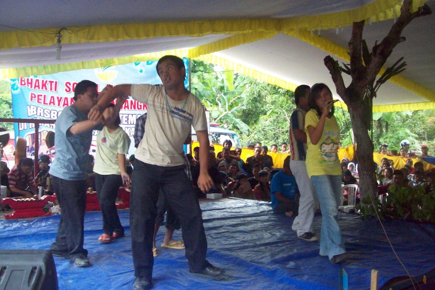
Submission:
[[[427,0],[413,1],[412,11],[416,11],[419,7],[424,5],[425,2],[427,2]],[[367,22],[395,19],[400,15],[400,8],[401,2],[397,0],[375,0],[358,9],[291,19],[231,19],[68,27],[68,30],[62,31],[63,45],[157,37],[201,37],[212,34],[225,34],[228,35],[228,37],[189,49],[174,49],[169,51],[167,50],[126,57],[117,57],[115,59],[106,60],[4,69],[0,70],[0,79],[18,78],[31,75],[46,75],[64,71],[101,68],[105,66],[116,66],[134,62],[156,60],[165,54],[174,54],[181,57],[190,57],[191,59],[207,61],[267,82],[269,84],[294,90],[296,88],[295,84],[284,81],[280,79],[279,76],[273,76],[259,72],[253,68],[249,68],[246,64],[223,60],[212,53],[235,47],[237,45],[271,38],[278,33],[285,33],[288,36],[301,39],[311,45],[319,47],[328,53],[340,57],[343,60],[348,60],[349,56],[347,54],[347,49],[319,37],[316,33],[314,33],[314,31],[319,29],[350,26],[354,21],[360,21],[364,19]],[[38,29],[34,31],[16,30],[0,32],[0,49],[10,49],[14,47],[30,48],[54,46],[56,45],[56,36],[59,29],[60,28],[50,28]],[[373,107],[373,111],[382,112],[400,110],[398,108],[422,109],[434,107],[434,93],[413,82],[408,81],[401,76],[395,76],[391,78],[390,81],[426,98],[429,100],[429,102],[375,106]]]

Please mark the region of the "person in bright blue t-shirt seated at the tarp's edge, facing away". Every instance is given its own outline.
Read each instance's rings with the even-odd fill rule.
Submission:
[[[276,173],[270,184],[270,200],[274,213],[284,213],[287,216],[298,215],[299,189],[296,179],[290,169],[290,156],[284,159],[283,170]]]

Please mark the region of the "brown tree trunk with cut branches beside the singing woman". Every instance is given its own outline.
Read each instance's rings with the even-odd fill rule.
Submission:
[[[352,128],[355,135],[357,148],[355,157],[358,162],[358,173],[360,177],[361,199],[371,196],[377,197],[377,182],[373,162],[373,143],[368,135],[368,128],[371,123],[371,106],[364,102],[364,95],[367,86],[375,79],[382,66],[387,61],[393,48],[400,42],[405,41],[401,37],[402,30],[414,18],[430,15],[432,12],[427,4],[424,4],[418,11],[411,13],[412,0],[403,0],[401,14],[393,24],[388,35],[382,42],[376,44],[370,53],[370,60],[365,65],[362,61],[362,32],[365,21],[354,22],[352,26],[352,37],[349,41],[350,50],[350,71],[352,82],[346,88],[341,75],[341,67],[331,56],[324,58],[324,64],[331,73],[331,77],[337,88],[337,93],[346,103],[350,113]],[[367,96],[373,98],[373,96]],[[366,100],[367,101],[367,100]],[[388,130],[388,124],[386,131]]]

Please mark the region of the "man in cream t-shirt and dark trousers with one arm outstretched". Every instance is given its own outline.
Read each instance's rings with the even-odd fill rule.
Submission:
[[[158,61],[156,69],[163,85],[115,86],[104,92],[89,113],[90,120],[99,120],[102,109],[119,95],[132,96],[148,107],[145,135],[135,152],[134,190],[130,197],[135,290],[152,287],[152,234],[160,189],[180,220],[189,271],[210,277],[225,272],[205,259],[207,240],[201,209],[184,172],[183,143],[193,126],[201,160],[198,187],[203,192],[213,187],[207,171],[209,141],[204,107],[184,86],[186,70],[182,59],[166,55]]]

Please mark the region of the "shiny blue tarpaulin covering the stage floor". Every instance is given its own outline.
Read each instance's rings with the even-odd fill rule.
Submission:
[[[348,273],[349,289],[369,289],[371,270],[379,271],[379,288],[407,273],[398,261],[380,223],[355,214],[339,214],[339,223],[351,258],[333,265],[318,254],[318,242],[296,237],[293,217],[275,215],[267,202],[223,199],[201,202],[208,241],[207,259],[224,267],[215,280],[191,275],[184,250],[159,248],[154,259],[153,289],[339,289],[339,271]],[[85,248],[90,268],[76,268],[55,257],[59,289],[132,289],[133,260],[128,210],[119,210],[126,237],[103,245],[100,212],[85,215]],[[0,220],[0,249],[48,249],[55,240],[60,215],[32,220]],[[314,230],[320,233],[321,215]],[[435,268],[435,226],[393,220],[384,223],[398,257],[411,276]],[[161,226],[157,246],[164,238]],[[176,231],[174,239],[181,239]],[[418,286],[417,286],[418,288]]]

